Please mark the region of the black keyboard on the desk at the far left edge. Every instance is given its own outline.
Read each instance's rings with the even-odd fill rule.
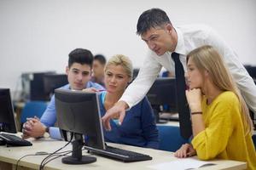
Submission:
[[[26,139],[21,139],[18,136],[7,133],[0,133],[0,138],[5,141],[7,146],[31,146],[32,143]]]

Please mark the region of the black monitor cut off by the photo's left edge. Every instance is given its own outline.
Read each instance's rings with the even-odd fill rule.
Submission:
[[[0,88],[0,132],[17,133],[9,88]]]

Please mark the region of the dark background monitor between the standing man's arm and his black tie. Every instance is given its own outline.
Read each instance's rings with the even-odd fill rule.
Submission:
[[[159,77],[154,81],[154,84],[149,89],[147,94],[148,100],[151,103],[156,122],[166,122],[160,120],[160,112],[177,113],[177,97],[176,97],[176,82],[172,77]]]

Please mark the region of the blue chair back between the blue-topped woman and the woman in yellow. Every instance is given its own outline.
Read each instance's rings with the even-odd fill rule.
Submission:
[[[160,138],[159,150],[176,151],[182,144],[188,143],[188,140],[183,139],[180,135],[179,127],[158,125]]]

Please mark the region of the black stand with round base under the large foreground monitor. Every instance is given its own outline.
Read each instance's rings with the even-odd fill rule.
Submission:
[[[81,134],[75,134],[75,140],[72,142],[73,150],[72,156],[67,156],[62,158],[62,163],[65,164],[87,164],[96,161],[96,157],[92,156],[82,156],[82,148],[83,148],[83,137]]]

